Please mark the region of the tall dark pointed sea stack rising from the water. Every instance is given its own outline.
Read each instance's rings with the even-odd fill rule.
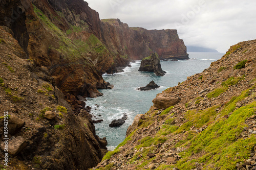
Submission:
[[[141,61],[139,71],[155,72],[157,76],[164,76],[166,73],[162,70],[159,57],[156,53]]]

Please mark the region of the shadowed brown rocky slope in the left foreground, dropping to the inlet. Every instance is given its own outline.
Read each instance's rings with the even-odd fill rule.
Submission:
[[[90,114],[83,109],[78,116],[74,114],[63,93],[51,85],[47,69],[22,59],[26,53],[7,27],[0,26],[0,48],[1,144],[9,138],[11,152],[19,147],[11,142],[21,136],[27,145],[16,156],[9,153],[9,166],[1,161],[1,168],[88,169],[97,165],[106,143],[95,134]],[[48,117],[47,111],[54,116]],[[4,112],[10,115],[7,136]],[[4,156],[1,150],[1,160]]]

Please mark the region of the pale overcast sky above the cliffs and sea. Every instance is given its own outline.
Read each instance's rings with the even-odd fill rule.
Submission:
[[[255,0],[86,0],[100,19],[119,18],[129,27],[176,29],[187,46],[228,51],[256,39]]]

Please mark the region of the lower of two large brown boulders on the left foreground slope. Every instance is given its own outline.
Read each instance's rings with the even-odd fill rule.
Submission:
[[[1,144],[1,149],[5,150],[7,146],[9,154],[17,155],[26,147],[26,145],[27,145],[26,140],[22,136],[17,136],[13,140],[9,140],[8,143],[5,143],[4,141]]]

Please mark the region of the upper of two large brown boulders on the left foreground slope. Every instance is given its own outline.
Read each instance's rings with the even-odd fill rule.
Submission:
[[[15,115],[10,115],[10,118],[8,119],[8,133],[14,135],[24,125],[25,121],[23,119],[20,119]]]

